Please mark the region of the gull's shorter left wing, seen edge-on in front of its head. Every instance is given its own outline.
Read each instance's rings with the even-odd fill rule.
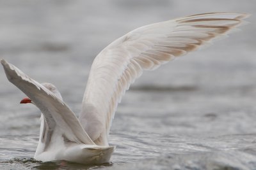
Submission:
[[[8,80],[22,90],[42,111],[49,129],[54,130],[58,126],[69,141],[95,145],[84,131],[76,115],[63,101],[12,64],[5,60],[1,60],[1,64]]]

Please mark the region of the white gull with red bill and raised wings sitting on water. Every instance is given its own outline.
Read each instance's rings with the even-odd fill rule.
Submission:
[[[35,159],[79,164],[109,162],[115,146],[108,136],[117,104],[144,70],[154,70],[181,55],[227,35],[245,13],[203,13],[145,25],[116,39],[93,60],[79,117],[51,83],[38,83],[2,59],[8,80],[42,112]]]

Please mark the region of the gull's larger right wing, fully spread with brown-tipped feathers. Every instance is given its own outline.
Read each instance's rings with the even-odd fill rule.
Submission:
[[[146,25],[108,45],[93,61],[79,120],[98,145],[107,136],[116,106],[144,70],[196,50],[241,24],[243,13],[204,13]]]

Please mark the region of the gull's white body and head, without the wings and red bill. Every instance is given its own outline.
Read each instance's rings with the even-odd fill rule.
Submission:
[[[54,93],[54,95],[62,101],[61,94],[56,90],[54,85],[51,83],[42,83],[41,85]],[[71,120],[72,119],[75,121],[76,117],[71,118]],[[40,120],[40,137],[35,153],[36,160],[42,160],[44,162],[51,160],[69,160],[83,164],[100,164],[109,161],[114,151],[113,146],[95,145],[88,136],[86,137],[88,141],[84,143],[89,145],[70,141],[65,132],[63,132],[63,127],[52,125],[54,126],[51,128],[52,130],[49,129],[49,125],[45,122],[43,113]],[[77,124],[79,124],[79,122]],[[86,132],[84,135],[86,136]]]

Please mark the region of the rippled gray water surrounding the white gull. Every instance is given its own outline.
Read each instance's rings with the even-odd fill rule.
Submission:
[[[93,58],[141,25],[240,11],[251,22],[227,39],[145,72],[118,105],[110,164],[33,159],[40,111],[0,68],[0,169],[256,169],[254,0],[0,0],[0,56],[51,82],[79,113]]]

